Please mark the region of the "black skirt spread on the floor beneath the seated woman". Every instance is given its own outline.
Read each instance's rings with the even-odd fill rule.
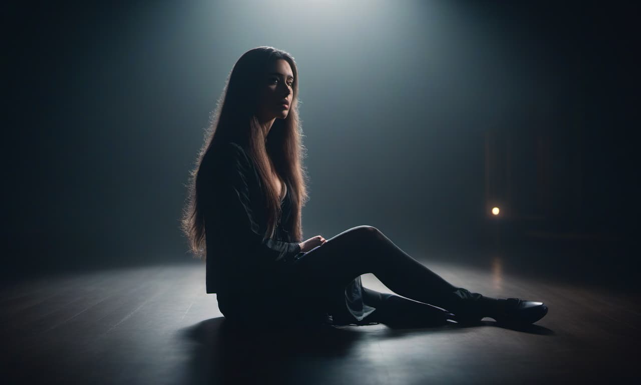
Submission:
[[[246,270],[221,288],[218,307],[225,318],[249,327],[369,325],[366,317],[376,307],[363,296],[361,277],[344,287],[333,286],[297,264],[305,254],[274,262],[263,271]]]

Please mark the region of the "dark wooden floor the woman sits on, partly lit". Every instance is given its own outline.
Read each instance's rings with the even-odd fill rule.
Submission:
[[[540,384],[641,377],[638,296],[422,261],[484,295],[540,300],[520,330],[484,325],[238,330],[204,293],[204,266],[34,278],[0,302],[3,384]],[[373,275],[367,287],[388,291]],[[9,381],[5,381],[8,379]],[[545,381],[545,382],[542,382]]]

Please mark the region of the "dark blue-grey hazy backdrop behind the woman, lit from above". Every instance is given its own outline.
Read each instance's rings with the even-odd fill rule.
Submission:
[[[3,280],[192,261],[179,230],[188,172],[231,67],[263,45],[299,66],[305,239],[372,225],[417,256],[536,249],[558,266],[631,274],[633,11],[540,1],[13,5]],[[501,215],[490,218],[494,205]]]

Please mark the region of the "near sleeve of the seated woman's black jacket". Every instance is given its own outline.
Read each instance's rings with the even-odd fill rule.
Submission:
[[[230,142],[224,147],[219,184],[220,199],[215,202],[223,223],[222,229],[229,241],[237,242],[251,253],[265,255],[269,261],[283,261],[301,252],[296,242],[267,238],[263,241],[250,201],[248,178],[253,177],[251,160],[242,147]]]

